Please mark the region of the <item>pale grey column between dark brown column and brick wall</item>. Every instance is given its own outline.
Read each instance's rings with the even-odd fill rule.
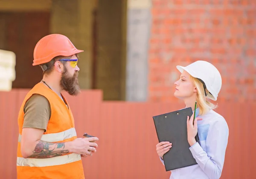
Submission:
[[[151,0],[128,0],[126,100],[148,98],[148,45]]]

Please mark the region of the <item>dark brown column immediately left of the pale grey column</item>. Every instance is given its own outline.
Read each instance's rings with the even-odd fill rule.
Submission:
[[[96,88],[105,100],[125,99],[127,0],[99,0]]]

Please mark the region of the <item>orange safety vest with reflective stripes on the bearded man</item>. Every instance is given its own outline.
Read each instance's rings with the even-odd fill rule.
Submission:
[[[26,95],[18,115],[17,179],[84,179],[84,170],[79,154],[67,153],[63,156],[47,159],[25,159],[22,157],[20,142],[24,121],[23,109],[32,94],[43,95],[51,105],[51,117],[47,125],[47,131],[44,132],[41,138],[42,141],[69,142],[77,138],[70,108],[67,108],[58,94],[50,88],[42,83],[36,84]]]

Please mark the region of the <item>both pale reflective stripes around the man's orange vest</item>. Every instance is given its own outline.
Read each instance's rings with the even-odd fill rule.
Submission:
[[[70,139],[76,136],[75,128],[70,128],[66,131],[43,134],[41,140],[44,142],[58,142],[65,139]],[[21,135],[19,134],[18,142],[21,142]],[[23,158],[17,157],[17,166],[29,166],[29,167],[47,167],[54,165],[63,165],[71,162],[76,162],[81,160],[81,155],[76,153],[71,153],[64,156],[56,156],[47,159],[34,159],[34,158]]]

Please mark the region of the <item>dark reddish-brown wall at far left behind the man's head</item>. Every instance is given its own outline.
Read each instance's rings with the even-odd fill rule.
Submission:
[[[32,66],[33,51],[37,41],[49,34],[49,20],[47,11],[0,11],[0,48],[16,54],[13,88],[32,88],[41,80],[41,68]]]

